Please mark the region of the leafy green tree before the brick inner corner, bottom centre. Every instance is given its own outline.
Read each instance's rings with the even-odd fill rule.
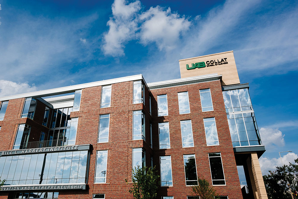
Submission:
[[[125,182],[128,183],[127,179]],[[133,186],[129,190],[136,199],[152,199],[157,195],[159,187],[159,175],[156,174],[155,167],[134,167],[132,170]]]

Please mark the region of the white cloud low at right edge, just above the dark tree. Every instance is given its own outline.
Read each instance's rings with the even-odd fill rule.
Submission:
[[[282,155],[282,154],[281,154]],[[260,157],[259,163],[262,170],[262,174],[265,175],[268,173],[268,170],[274,171],[276,166],[282,166],[283,164],[288,165],[289,162],[294,163],[294,160],[298,158],[298,155],[295,153],[287,153],[281,158],[268,158]]]

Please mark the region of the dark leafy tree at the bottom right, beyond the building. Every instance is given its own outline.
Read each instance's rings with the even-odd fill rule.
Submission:
[[[276,167],[275,171],[269,171],[268,175],[263,175],[268,198],[270,199],[291,199],[288,183],[290,184],[294,198],[298,192],[298,158],[296,164],[290,163],[282,167]]]

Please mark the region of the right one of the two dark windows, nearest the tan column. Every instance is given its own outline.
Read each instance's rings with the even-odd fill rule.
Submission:
[[[226,185],[221,153],[208,153],[212,185]]]

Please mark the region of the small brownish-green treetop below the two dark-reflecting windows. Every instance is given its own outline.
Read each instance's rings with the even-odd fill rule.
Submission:
[[[205,179],[198,178],[198,185],[192,186],[192,188],[195,195],[200,197],[200,199],[218,198],[215,189]]]

